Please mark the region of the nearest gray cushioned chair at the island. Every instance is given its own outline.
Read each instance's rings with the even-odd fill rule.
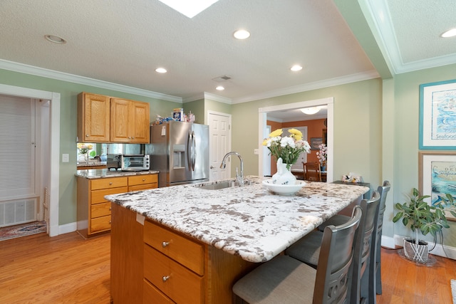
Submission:
[[[237,281],[233,293],[250,304],[351,303],[353,245],[362,213],[355,206],[345,224],[325,228],[318,269],[290,256],[276,256]]]

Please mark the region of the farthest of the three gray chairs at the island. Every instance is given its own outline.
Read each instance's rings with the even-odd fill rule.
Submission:
[[[368,303],[376,303],[375,295],[382,294],[382,277],[381,277],[381,246],[382,246],[382,231],[383,231],[383,214],[386,208],[386,196],[391,189],[391,184],[384,181],[382,186],[378,186],[377,191],[380,194],[380,203],[378,204],[377,228],[373,235],[373,246],[371,246],[371,259],[369,262],[369,276],[363,277],[361,283],[361,295],[363,298],[368,298]],[[336,214],[318,226],[318,230],[323,231],[326,225],[338,225],[347,221],[348,216]],[[367,280],[367,281],[366,281]]]

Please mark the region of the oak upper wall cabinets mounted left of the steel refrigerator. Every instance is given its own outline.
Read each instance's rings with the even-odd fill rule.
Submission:
[[[149,142],[149,104],[105,95],[78,95],[79,142]]]

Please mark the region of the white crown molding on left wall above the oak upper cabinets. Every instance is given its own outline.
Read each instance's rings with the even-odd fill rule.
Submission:
[[[140,88],[133,88],[127,85],[119,85],[118,83],[109,83],[108,81],[97,80],[93,78],[73,75],[56,70],[48,70],[46,68],[38,68],[33,65],[26,65],[24,63],[16,63],[13,61],[6,61],[0,59],[0,68],[4,70],[12,70],[14,72],[26,73],[30,75],[41,76],[56,80],[68,81],[70,83],[79,83],[81,85],[90,85],[96,88],[104,88],[108,90],[116,90],[123,93],[130,93],[160,100],[172,101],[174,103],[182,103],[182,98],[172,95],[153,92],[150,90],[143,90]]]

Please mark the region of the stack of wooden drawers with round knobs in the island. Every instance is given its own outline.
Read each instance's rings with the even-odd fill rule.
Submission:
[[[150,221],[144,242],[143,294],[164,303],[204,303],[204,245]],[[145,296],[143,303],[150,300]]]

